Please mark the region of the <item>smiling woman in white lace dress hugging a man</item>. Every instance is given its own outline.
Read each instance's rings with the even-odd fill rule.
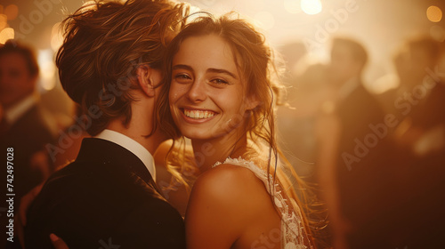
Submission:
[[[158,118],[171,114],[177,128],[162,128],[190,139],[200,172],[185,215],[189,248],[314,246],[306,188],[275,141],[273,69],[263,35],[231,15],[190,22],[167,48]]]

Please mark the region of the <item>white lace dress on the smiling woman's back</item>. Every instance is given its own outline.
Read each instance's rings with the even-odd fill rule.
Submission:
[[[294,201],[288,199],[285,192],[283,192],[278,183],[275,186],[269,184],[269,180],[272,182],[271,174],[266,173],[263,169],[255,165],[252,161],[247,161],[241,157],[231,158],[228,157],[223,163],[216,163],[217,165],[238,165],[245,167],[255,173],[255,176],[263,181],[269,195],[271,195],[275,201],[275,205],[278,207],[281,214],[281,248],[283,249],[303,249],[313,248],[310,239],[307,237],[307,232],[304,229],[302,221],[302,213],[298,205],[290,204]]]

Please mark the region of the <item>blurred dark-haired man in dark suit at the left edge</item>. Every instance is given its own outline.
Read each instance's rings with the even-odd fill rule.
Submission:
[[[53,172],[52,161],[44,149],[54,140],[53,119],[39,103],[38,71],[35,52],[30,47],[13,40],[0,47],[0,145],[4,162],[7,149],[13,149],[13,189],[8,193],[15,194],[14,211],[20,198]],[[5,227],[6,215],[1,217]],[[15,248],[17,244],[8,246]]]

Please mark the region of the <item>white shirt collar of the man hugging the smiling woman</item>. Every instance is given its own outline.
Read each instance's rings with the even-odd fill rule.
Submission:
[[[156,181],[156,167],[153,156],[151,156],[150,151],[145,149],[139,142],[134,141],[122,133],[117,133],[108,129],[103,130],[101,133],[94,136],[94,138],[111,141],[130,150],[136,157],[141,159],[142,163],[149,170],[153,180]]]

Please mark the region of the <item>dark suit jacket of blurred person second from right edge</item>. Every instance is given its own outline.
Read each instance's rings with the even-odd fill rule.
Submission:
[[[350,246],[384,248],[379,246],[385,243],[385,229],[390,227],[386,213],[392,208],[392,128],[386,127],[385,135],[381,130],[381,136],[370,128],[369,125],[384,124],[385,114],[362,84],[340,102],[336,111],[342,126],[336,168],[340,203],[344,217],[354,226],[352,240],[358,243],[352,242]],[[370,140],[371,136],[377,140]],[[368,151],[356,154],[354,149],[360,143]],[[344,152],[360,161],[348,169],[342,157]]]

